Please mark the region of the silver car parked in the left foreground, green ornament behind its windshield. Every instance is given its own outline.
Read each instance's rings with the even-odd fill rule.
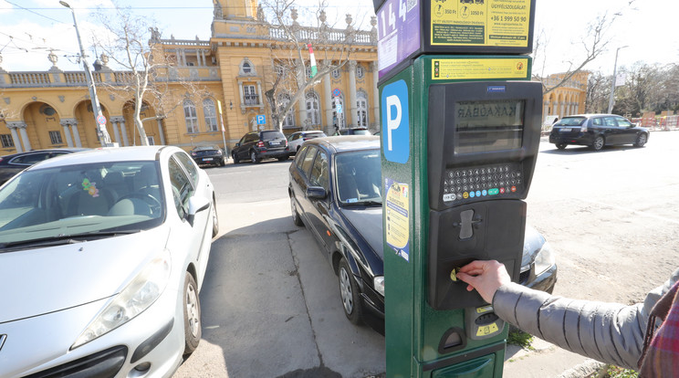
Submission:
[[[171,376],[201,340],[217,232],[214,186],[178,147],[18,173],[0,188],[0,376]]]

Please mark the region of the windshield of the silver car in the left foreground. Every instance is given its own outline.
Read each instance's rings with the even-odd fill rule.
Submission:
[[[0,189],[0,249],[149,229],[162,223],[164,201],[155,162],[25,171]]]

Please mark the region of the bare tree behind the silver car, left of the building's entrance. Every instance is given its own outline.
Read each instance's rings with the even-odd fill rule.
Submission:
[[[125,72],[114,82],[102,82],[109,91],[132,101],[132,117],[141,144],[148,145],[143,122],[166,118],[183,104],[184,98],[200,97],[205,89],[183,80],[173,71],[176,61],[162,49],[161,33],[148,18],[135,16],[131,9],[116,6],[115,16],[99,11],[100,25],[108,33],[95,37],[100,47]],[[177,85],[178,84],[178,85]],[[142,109],[151,106],[155,115],[141,118]]]

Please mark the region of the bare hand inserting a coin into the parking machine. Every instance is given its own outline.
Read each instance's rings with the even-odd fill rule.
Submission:
[[[460,268],[456,276],[468,284],[467,291],[476,289],[488,303],[493,303],[497,289],[512,281],[505,265],[496,260],[472,261]]]

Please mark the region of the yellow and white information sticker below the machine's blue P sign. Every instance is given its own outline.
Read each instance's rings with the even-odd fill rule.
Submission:
[[[410,211],[408,184],[384,179],[387,245],[396,255],[410,261]]]

